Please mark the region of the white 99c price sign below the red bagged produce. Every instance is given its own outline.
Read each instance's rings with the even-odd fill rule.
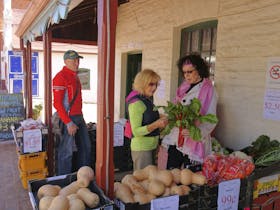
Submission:
[[[219,184],[218,210],[238,210],[240,179]]]

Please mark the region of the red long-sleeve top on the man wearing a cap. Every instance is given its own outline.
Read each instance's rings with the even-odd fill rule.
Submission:
[[[71,122],[70,115],[82,114],[81,82],[77,74],[78,72],[72,71],[64,66],[53,78],[53,106],[65,124]],[[69,104],[73,99],[77,88],[78,93],[76,99],[68,114],[64,106],[65,100],[67,100],[67,104]]]

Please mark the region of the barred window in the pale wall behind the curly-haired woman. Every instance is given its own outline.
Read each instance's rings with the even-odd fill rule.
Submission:
[[[216,61],[216,40],[218,21],[202,22],[181,31],[181,53],[180,56],[192,52],[198,52],[210,65],[210,78],[214,81]],[[179,71],[179,83],[183,78]]]

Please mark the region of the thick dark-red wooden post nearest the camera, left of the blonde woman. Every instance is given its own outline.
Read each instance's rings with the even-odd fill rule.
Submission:
[[[98,1],[96,182],[113,198],[113,126],[117,0]],[[109,17],[109,19],[107,18]]]

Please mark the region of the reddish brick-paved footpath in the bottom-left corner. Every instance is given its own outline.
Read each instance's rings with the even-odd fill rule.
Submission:
[[[19,178],[13,140],[0,141],[0,210],[32,210],[28,190]]]

